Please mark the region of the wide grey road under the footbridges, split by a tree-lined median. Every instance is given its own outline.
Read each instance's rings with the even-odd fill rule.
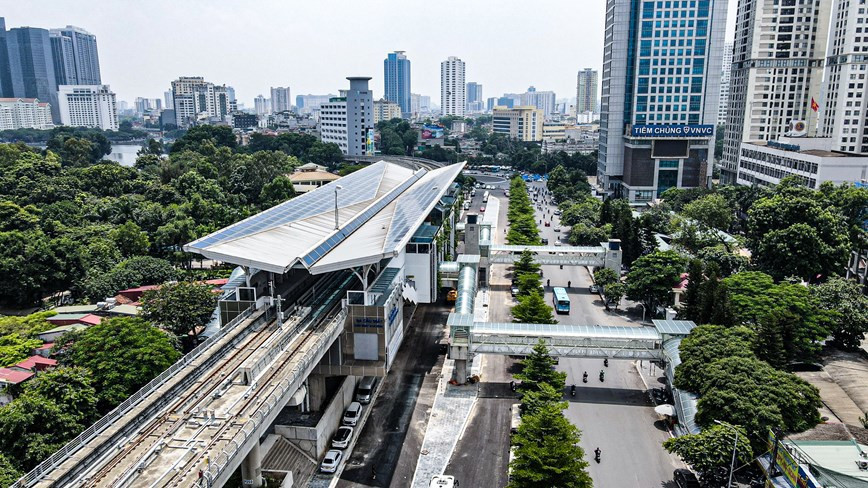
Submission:
[[[542,186],[542,183],[537,183]],[[480,192],[477,192],[479,198]],[[501,200],[499,230],[495,242],[502,243],[506,225],[507,201],[502,192],[492,196]],[[479,204],[474,199],[473,209]],[[553,221],[551,227],[540,226],[542,237],[550,244],[562,233],[555,233],[559,219],[554,207],[543,213],[536,210],[537,221]],[[514,301],[509,294],[511,274],[506,266],[492,267],[490,320],[509,322]],[[641,311],[635,304],[622,301],[620,311],[606,311],[599,295],[591,294],[591,277],[584,267],[543,266],[543,284],[551,280],[552,286],[564,286],[570,295],[571,311],[555,318],[566,324],[601,324],[641,327]],[[546,300],[551,303],[551,287],[546,288]],[[623,308],[631,309],[627,313]],[[481,395],[477,401],[463,438],[447,467],[446,474],[456,476],[462,486],[502,487],[506,485],[509,445],[509,406],[514,398],[487,398],[508,396],[508,381],[514,361],[505,356],[486,356],[482,372]],[[674,487],[672,472],[680,463],[671,457],[661,443],[669,435],[658,422],[645,387],[632,361],[612,360],[604,368],[598,359],[561,359],[558,369],[567,372],[567,385],[576,384],[577,394],[565,399],[569,408],[567,418],[582,430],[581,445],[585,449],[588,470],[594,486],[602,488]],[[604,382],[599,381],[600,369],[606,370]],[[582,383],[582,372],[588,371],[589,382]],[[569,387],[567,388],[569,389]],[[565,392],[566,393],[566,392]],[[596,447],[602,450],[599,464],[593,461]]]

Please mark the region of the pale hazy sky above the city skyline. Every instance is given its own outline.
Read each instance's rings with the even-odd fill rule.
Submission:
[[[718,0],[721,1],[721,0]],[[737,0],[729,2],[732,38]],[[413,93],[439,104],[440,62],[457,56],[483,98],[533,85],[576,96],[579,69],[602,68],[605,0],[0,0],[6,28],[75,25],[97,36],[118,100],[162,98],[179,76],[235,88],[245,106],[272,86],[337,93],[406,51]]]

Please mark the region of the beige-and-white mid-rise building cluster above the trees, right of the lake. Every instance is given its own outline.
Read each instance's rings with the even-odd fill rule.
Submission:
[[[222,122],[229,114],[226,85],[215,85],[201,76],[182,76],[172,82],[172,99],[178,127]]]

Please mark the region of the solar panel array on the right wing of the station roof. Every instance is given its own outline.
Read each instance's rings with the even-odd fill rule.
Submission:
[[[416,222],[425,217],[426,210],[429,206],[435,203],[437,195],[443,194],[449,189],[449,183],[455,178],[461,165],[455,167],[446,167],[435,170],[438,174],[433,174],[427,178],[427,181],[421,183],[402,195],[398,203],[395,205],[395,214],[392,216],[392,224],[389,227],[389,232],[386,234],[386,242],[383,245],[383,252],[389,253],[395,251],[401,241],[407,234],[410,233]]]

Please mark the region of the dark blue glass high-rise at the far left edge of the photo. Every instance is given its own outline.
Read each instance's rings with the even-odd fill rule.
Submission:
[[[46,29],[16,27],[6,33],[9,79],[15,98],[38,98],[51,104],[52,118],[60,121],[57,78],[51,40]]]

